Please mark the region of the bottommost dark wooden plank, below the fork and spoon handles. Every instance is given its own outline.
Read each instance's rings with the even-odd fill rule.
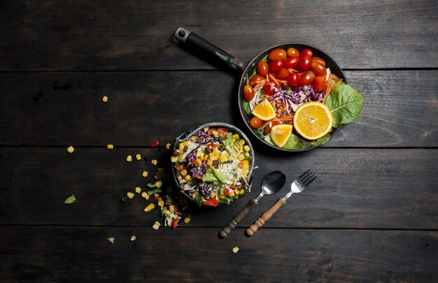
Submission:
[[[433,282],[437,247],[436,231],[264,229],[221,240],[209,228],[3,226],[0,280]]]

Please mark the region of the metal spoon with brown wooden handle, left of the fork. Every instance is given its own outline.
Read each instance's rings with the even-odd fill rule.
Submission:
[[[237,224],[241,222],[241,220],[248,214],[248,212],[255,208],[260,201],[260,198],[265,194],[275,194],[277,191],[283,187],[286,181],[286,175],[284,175],[281,171],[272,171],[271,173],[267,173],[262,179],[262,191],[256,197],[251,199],[248,204],[241,210],[241,212],[237,213],[236,216],[225,226],[222,231],[220,231],[219,235],[221,238],[226,238],[231,231],[236,228]]]

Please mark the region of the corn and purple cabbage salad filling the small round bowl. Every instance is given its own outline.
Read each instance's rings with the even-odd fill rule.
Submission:
[[[250,189],[252,147],[231,129],[199,129],[176,145],[171,161],[181,191],[199,206],[229,204]]]

